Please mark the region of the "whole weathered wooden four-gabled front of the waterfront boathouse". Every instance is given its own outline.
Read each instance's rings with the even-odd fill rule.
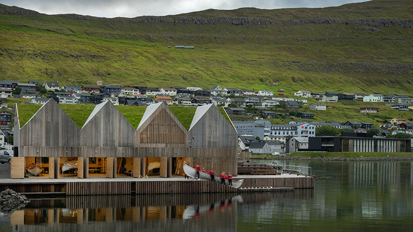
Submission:
[[[184,157],[192,158],[192,164],[201,163],[206,169],[234,175],[237,172],[236,130],[213,104],[196,109],[189,131],[165,103],[149,105],[137,130],[110,101],[96,105],[82,128],[53,100],[21,128],[18,115],[16,105],[16,156],[78,157],[79,178],[88,178],[90,157],[139,158],[131,168],[133,177],[146,175],[145,160],[152,157],[162,158],[162,177],[171,177],[172,158]],[[59,178],[59,161],[53,162],[54,173],[49,178]],[[115,178],[116,159],[108,159],[107,165],[110,169],[107,177]]]

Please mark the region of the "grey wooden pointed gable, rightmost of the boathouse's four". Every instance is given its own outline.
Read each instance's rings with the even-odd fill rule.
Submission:
[[[192,147],[236,147],[237,132],[214,104],[198,106],[189,129]]]

